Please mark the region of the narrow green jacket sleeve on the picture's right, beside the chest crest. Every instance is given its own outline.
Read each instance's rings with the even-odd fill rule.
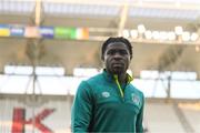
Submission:
[[[143,121],[143,106],[144,106],[144,96],[142,94],[141,96],[142,101],[141,101],[141,109],[140,112],[137,116],[137,123],[136,123],[136,132],[137,133],[143,133],[143,125],[142,125],[142,121]]]

